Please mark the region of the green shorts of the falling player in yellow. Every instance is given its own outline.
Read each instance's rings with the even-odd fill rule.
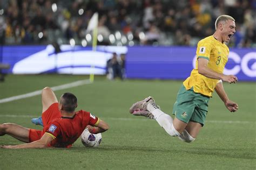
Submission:
[[[182,84],[178,91],[177,101],[173,105],[172,114],[185,123],[192,121],[204,126],[209,99],[208,96],[195,93],[193,87],[186,90]]]

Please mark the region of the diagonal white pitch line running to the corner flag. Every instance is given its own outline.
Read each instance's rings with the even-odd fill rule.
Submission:
[[[57,91],[57,90],[68,89],[68,88],[71,88],[71,87],[81,86],[81,85],[84,85],[84,84],[90,84],[90,83],[91,83],[90,80],[79,80],[79,81],[75,81],[75,82],[72,82],[72,83],[51,87],[51,89],[53,91]],[[41,93],[42,93],[42,90],[36,90],[36,91],[31,92],[31,93],[27,93],[27,94],[23,94],[23,95],[3,98],[3,99],[0,99],[0,103],[6,103],[6,102],[11,102],[11,101],[16,101],[16,100],[19,100],[19,99],[22,99],[22,98],[37,96],[37,95],[40,95]]]

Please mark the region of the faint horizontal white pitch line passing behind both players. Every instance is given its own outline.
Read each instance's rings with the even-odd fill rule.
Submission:
[[[10,114],[2,114],[0,117],[12,117],[12,118],[32,118],[37,117],[35,115],[10,115]],[[140,118],[124,118],[124,117],[100,117],[102,119],[111,119],[114,121],[147,121],[148,119],[140,119]],[[248,123],[256,123],[255,121],[206,121],[207,123],[237,123],[237,124],[248,124]]]

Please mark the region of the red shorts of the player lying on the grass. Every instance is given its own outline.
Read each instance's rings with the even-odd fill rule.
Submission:
[[[53,103],[42,114],[44,127],[48,128],[47,125],[49,123],[51,123],[53,119],[60,118],[60,117],[62,117],[62,115],[60,114],[60,111],[59,111],[59,108],[58,108],[58,103]],[[30,129],[29,130],[29,142],[41,139],[44,132],[47,130],[45,128],[43,129],[43,131],[42,130],[36,130],[36,129]]]

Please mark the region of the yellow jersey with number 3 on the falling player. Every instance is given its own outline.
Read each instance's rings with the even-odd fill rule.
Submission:
[[[221,43],[213,36],[200,40],[197,45],[197,59],[204,58],[209,60],[208,68],[218,73],[223,73],[229,52],[226,44]],[[211,79],[199,74],[197,60],[196,68],[192,70],[190,77],[187,77],[183,84],[187,90],[193,87],[194,92],[212,97],[213,90],[218,81],[217,79]]]

